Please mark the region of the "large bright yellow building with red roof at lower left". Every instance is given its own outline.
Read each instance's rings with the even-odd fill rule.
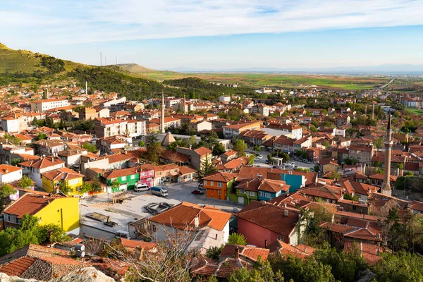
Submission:
[[[45,193],[47,194],[47,193]],[[26,193],[4,210],[4,226],[16,228],[25,214],[37,216],[40,224],[53,223],[64,231],[79,227],[79,199],[44,193]]]

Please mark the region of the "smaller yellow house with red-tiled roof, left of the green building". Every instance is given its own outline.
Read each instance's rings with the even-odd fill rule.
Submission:
[[[41,173],[41,176],[42,188],[50,193],[55,193],[61,181],[66,181],[69,188],[71,188],[68,192],[69,196],[79,194],[78,191],[82,187],[82,177],[84,177],[82,174],[66,167]]]

